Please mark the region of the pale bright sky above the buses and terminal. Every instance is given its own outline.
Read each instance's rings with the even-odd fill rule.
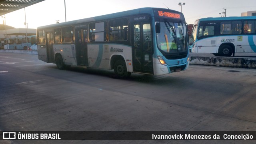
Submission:
[[[182,6],[182,13],[188,24],[194,24],[199,18],[220,17],[219,13],[222,14],[224,8],[226,8],[226,16],[241,16],[242,12],[256,11],[255,0],[66,0],[66,21],[142,7],[168,7],[181,11],[179,2],[186,3]],[[45,0],[28,6],[25,10],[28,28],[54,24],[56,20],[65,22],[64,0]],[[22,8],[6,14],[6,25],[26,28],[25,10]],[[0,22],[3,23],[1,20]]]

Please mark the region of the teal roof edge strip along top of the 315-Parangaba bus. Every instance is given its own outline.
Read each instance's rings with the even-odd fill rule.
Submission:
[[[105,20],[105,19],[108,19],[108,18],[118,18],[118,17],[122,17],[122,16],[130,16],[130,15],[134,15],[134,14],[148,13],[151,16],[154,16],[154,10],[172,11],[172,12],[181,14],[182,18],[184,19],[183,14],[181,12],[178,12],[178,11],[175,11],[175,10],[170,10],[170,9],[165,9],[165,8],[138,8],[138,9],[134,9],[134,10],[116,12],[116,13],[112,13],[112,14],[106,14],[106,15],[102,15],[102,16],[95,16],[95,17],[91,17],[91,18],[84,18],[84,19],[79,19],[79,20],[72,20],[72,21],[69,21],[69,22],[61,22],[61,23],[58,23],[58,24],[50,24],[50,25],[46,25],[46,26],[39,26],[38,29],[56,27],[56,26],[67,26],[68,24],[70,24],[70,25],[79,24],[81,22],[92,22],[92,21],[96,21],[96,20]]]

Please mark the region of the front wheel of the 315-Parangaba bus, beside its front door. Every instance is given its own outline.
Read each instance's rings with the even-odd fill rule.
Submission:
[[[124,60],[117,60],[114,64],[114,72],[120,78],[127,78],[131,75],[130,72],[127,72],[126,64]]]

